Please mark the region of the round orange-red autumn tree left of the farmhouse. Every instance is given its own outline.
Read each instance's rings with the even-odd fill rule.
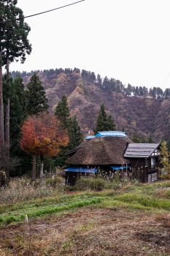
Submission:
[[[41,177],[44,171],[43,157],[55,157],[61,151],[61,146],[67,146],[69,143],[66,129],[62,129],[57,118],[47,113],[29,116],[23,123],[21,134],[20,147],[23,151],[41,159]],[[35,166],[32,178],[36,178]]]

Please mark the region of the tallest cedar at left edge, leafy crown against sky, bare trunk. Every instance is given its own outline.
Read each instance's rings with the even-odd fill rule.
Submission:
[[[23,11],[16,7],[17,0],[3,0],[1,1],[1,21],[12,20],[9,22],[1,23],[1,39],[0,39],[0,73],[1,67],[6,65],[7,68],[7,85],[9,87],[9,64],[13,61],[20,59],[21,63],[26,60],[26,54],[31,53],[31,45],[28,41],[28,33],[30,27],[24,22]],[[16,20],[21,18],[20,20]],[[0,75],[0,94],[2,89],[1,75]],[[1,97],[1,95],[0,95]],[[2,98],[2,97],[1,97]],[[0,125],[0,138],[4,134],[5,140],[1,140],[1,145],[4,145],[7,151],[7,159],[9,162],[9,96],[7,97],[7,105],[5,110],[5,129],[3,125]],[[0,99],[0,120],[3,121],[3,101]],[[2,115],[2,116],[1,116]],[[9,170],[7,170],[7,178],[9,178]]]

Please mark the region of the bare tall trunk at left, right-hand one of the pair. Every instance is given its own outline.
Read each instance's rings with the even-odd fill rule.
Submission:
[[[9,90],[9,59],[7,59],[7,88]],[[7,175],[7,180],[9,180],[9,147],[10,147],[10,139],[9,139],[9,107],[10,107],[10,99],[8,95],[7,99],[7,106],[6,106],[6,111],[5,111],[5,152],[7,155],[7,167],[6,167],[6,175]]]

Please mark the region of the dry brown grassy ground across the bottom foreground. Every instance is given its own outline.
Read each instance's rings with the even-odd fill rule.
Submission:
[[[170,217],[82,208],[0,228],[0,255],[170,255]]]

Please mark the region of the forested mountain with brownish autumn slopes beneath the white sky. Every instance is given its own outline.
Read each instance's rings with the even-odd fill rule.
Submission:
[[[71,114],[77,115],[82,132],[93,132],[101,103],[117,124],[117,129],[128,135],[139,135],[153,140],[169,139],[170,89],[145,86],[124,86],[114,78],[101,79],[94,72],[80,69],[50,69],[37,71],[49,100],[50,110],[63,97],[68,97]],[[28,83],[31,72],[12,72]]]

